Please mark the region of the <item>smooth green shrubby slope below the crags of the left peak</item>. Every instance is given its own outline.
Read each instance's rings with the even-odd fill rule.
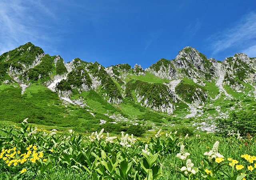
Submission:
[[[42,85],[33,84],[24,94],[12,85],[2,85],[0,98],[3,107],[0,109],[0,120],[21,122],[29,118],[30,123],[76,127],[79,132],[92,132],[98,130],[99,119],[108,118],[101,113],[95,113],[94,117],[86,109],[74,105],[65,107],[57,94]]]

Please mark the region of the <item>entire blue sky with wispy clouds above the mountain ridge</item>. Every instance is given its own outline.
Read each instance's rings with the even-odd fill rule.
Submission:
[[[186,46],[256,57],[255,0],[1,0],[0,54],[26,42],[105,67],[174,59]]]

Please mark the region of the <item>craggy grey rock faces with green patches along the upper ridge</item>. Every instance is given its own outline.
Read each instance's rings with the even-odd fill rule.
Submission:
[[[44,84],[62,98],[95,91],[111,104],[131,101],[173,114],[181,104],[191,109],[221,96],[231,98],[226,88],[234,92],[247,86],[255,89],[256,58],[237,53],[217,62],[185,47],[175,59],[160,59],[145,70],[138,64],[134,68],[128,64],[105,68],[79,58],[64,64],[60,56],[49,56],[27,43],[0,56],[0,83],[14,82],[23,92],[33,83]]]

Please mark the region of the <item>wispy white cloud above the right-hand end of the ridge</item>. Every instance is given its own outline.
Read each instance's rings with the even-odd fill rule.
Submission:
[[[212,41],[212,55],[229,48],[250,50],[256,42],[256,12],[246,14],[233,27],[213,35],[209,40]]]

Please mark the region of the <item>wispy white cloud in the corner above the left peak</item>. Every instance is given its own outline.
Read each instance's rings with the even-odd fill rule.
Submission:
[[[0,54],[26,42],[42,44],[50,37],[44,36],[48,28],[44,18],[55,15],[40,0],[0,1]]]

